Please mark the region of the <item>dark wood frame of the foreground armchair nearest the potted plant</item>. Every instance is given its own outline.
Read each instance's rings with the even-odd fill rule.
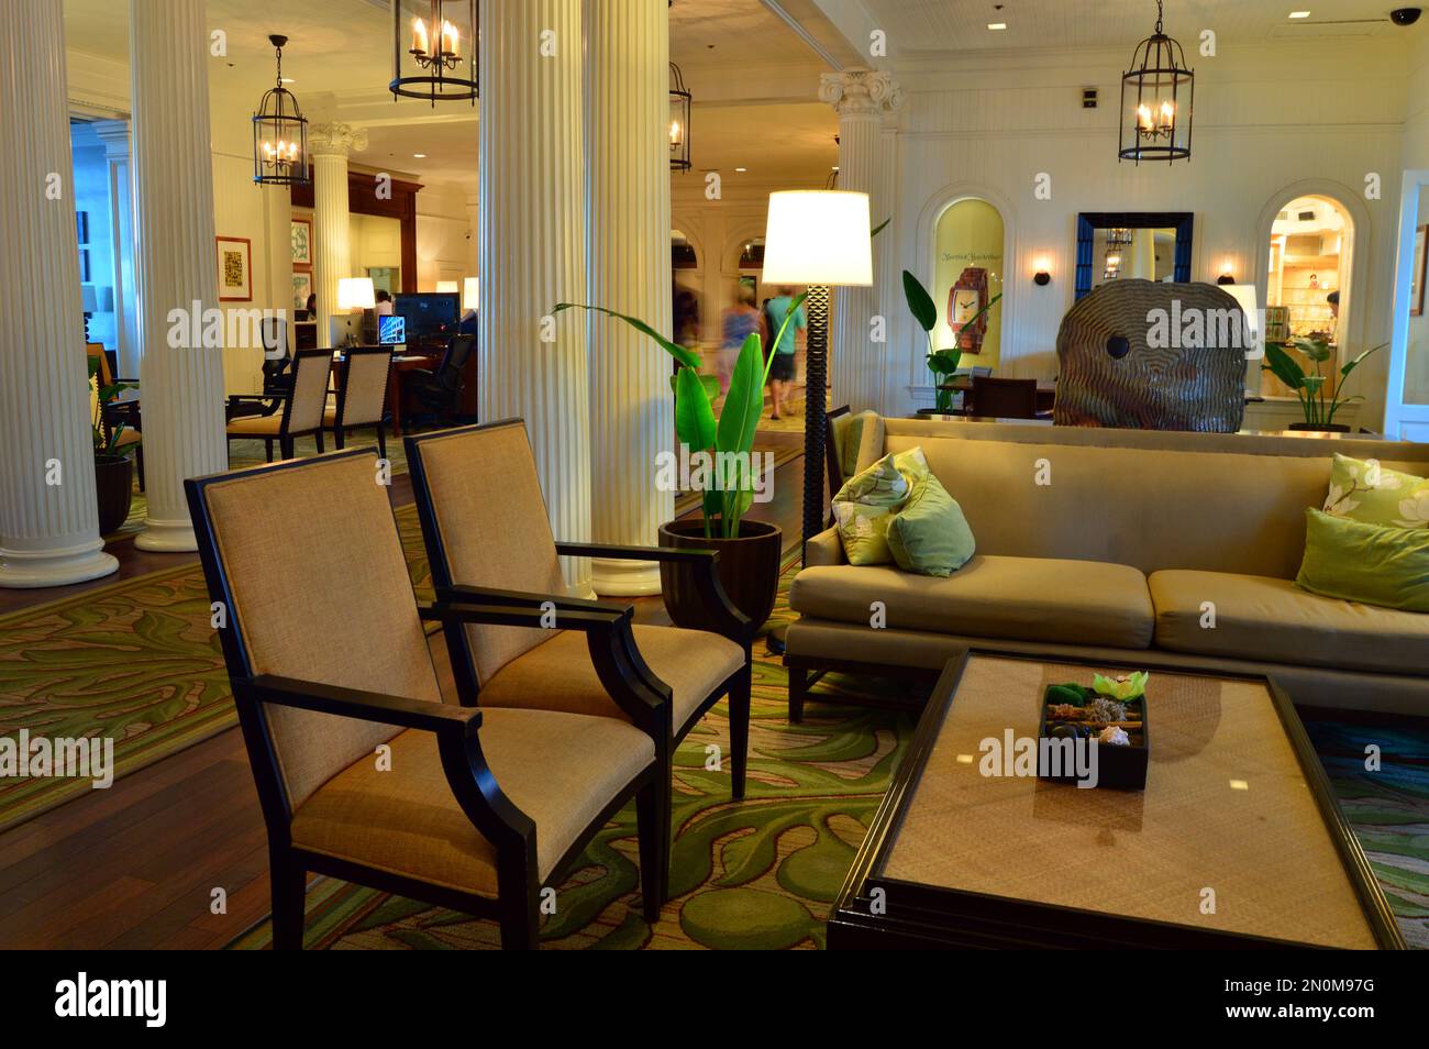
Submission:
[[[436,587],[436,607],[479,605],[484,607],[504,607],[522,610],[526,616],[537,620],[543,607],[554,607],[556,627],[572,626],[572,616],[624,615],[622,626],[612,630],[610,636],[587,636],[590,657],[596,666],[600,683],[610,697],[627,715],[639,709],[640,703],[659,702],[666,710],[663,735],[654,736],[657,765],[660,767],[660,800],[662,812],[660,829],[663,855],[669,856],[669,835],[672,815],[672,787],[674,747],[689,735],[699,720],[720,699],[729,696],[729,736],[730,736],[730,770],[732,795],[736,800],[745,797],[745,780],[749,757],[749,702],[753,686],[752,646],[755,639],[755,625],[747,616],[736,609],[725,593],[719,582],[719,553],[716,550],[686,550],[666,546],[612,546],[606,543],[556,543],[556,553],[563,557],[603,557],[610,560],[644,560],[666,562],[690,567],[696,573],[696,586],[709,615],[709,622],[716,625],[717,633],[739,645],[745,652],[745,666],[732,673],[700,700],[683,725],[670,723],[670,702],[673,690],[660,680],[640,655],[636,645],[632,607],[627,605],[613,605],[607,602],[593,602],[564,595],[523,593],[517,590],[497,590],[490,587],[463,586],[452,579],[450,562],[446,547],[442,543],[442,533],[436,524],[436,513],[432,506],[432,489],[427,483],[426,469],[422,462],[422,444],[427,440],[442,439],[454,433],[469,433],[476,430],[493,430],[507,426],[524,426],[520,419],[506,419],[494,423],[466,426],[457,430],[439,430],[412,437],[404,437],[407,449],[407,469],[412,474],[412,490],[417,503],[417,519],[422,523],[422,539],[427,549],[427,560],[432,566],[432,582]],[[487,620],[489,622],[489,620]],[[543,623],[533,623],[543,625]],[[443,620],[442,629],[446,635],[447,652],[452,655],[452,665],[456,670],[457,693],[463,706],[479,706],[480,686],[477,685],[476,665],[467,646],[466,630],[462,620],[452,617]],[[457,663],[460,662],[460,667]],[[634,720],[634,715],[630,715]],[[644,723],[636,725],[650,730]]]

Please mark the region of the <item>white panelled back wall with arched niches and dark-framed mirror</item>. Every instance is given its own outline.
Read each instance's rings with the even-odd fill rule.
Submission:
[[[1169,167],[1116,160],[1126,59],[1082,50],[902,63],[896,74],[909,100],[890,230],[899,269],[930,279],[933,220],[949,200],[995,203],[1007,236],[1002,373],[1050,379],[1057,326],[1075,296],[1079,212],[1193,212],[1192,276],[1213,282],[1226,256],[1238,277],[1263,272],[1268,214],[1315,187],[1342,199],[1363,224],[1348,349],[1386,340],[1408,41],[1222,49],[1220,57],[1196,59],[1192,159]],[[1082,109],[1085,87],[1100,90],[1097,109]],[[1042,173],[1050,176],[1049,200],[1035,194]],[[1369,173],[1380,176],[1376,200],[1365,197]],[[1052,262],[1046,287],[1032,283],[1039,256]],[[1263,303],[1263,283],[1260,296]],[[897,413],[930,404],[932,392],[907,310],[897,303],[893,312],[885,410]],[[1356,377],[1369,397],[1362,424],[1375,424],[1383,404],[1386,354],[1376,356]]]

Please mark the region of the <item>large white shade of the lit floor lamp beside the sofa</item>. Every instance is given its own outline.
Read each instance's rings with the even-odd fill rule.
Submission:
[[[873,284],[869,194],[792,190],[769,194],[765,283]]]

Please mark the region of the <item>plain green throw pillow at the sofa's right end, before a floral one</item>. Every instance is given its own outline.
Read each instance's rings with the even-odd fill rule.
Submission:
[[[1365,524],[1309,509],[1295,580],[1325,597],[1429,612],[1429,529]]]

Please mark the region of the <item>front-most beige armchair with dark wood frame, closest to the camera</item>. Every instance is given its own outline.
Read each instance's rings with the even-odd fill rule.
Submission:
[[[423,619],[520,627],[540,612],[419,606],[376,474],[372,449],[354,449],[184,482],[227,616],[219,640],[267,826],[274,946],[302,946],[317,872],[496,918],[502,946],[534,948],[542,889],[632,796],[653,922],[667,863],[656,739],[614,717],[443,703]],[[619,652],[629,636],[627,610],[562,620],[593,647]]]

